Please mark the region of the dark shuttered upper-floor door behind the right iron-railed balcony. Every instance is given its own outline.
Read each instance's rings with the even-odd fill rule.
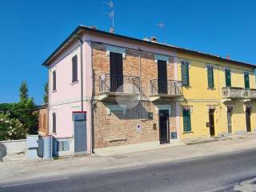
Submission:
[[[167,94],[167,66],[162,60],[158,60],[158,94]]]

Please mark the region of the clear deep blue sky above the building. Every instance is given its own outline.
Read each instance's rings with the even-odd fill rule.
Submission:
[[[0,103],[18,102],[26,81],[42,104],[47,70],[42,62],[78,26],[109,31],[108,0],[1,0]],[[159,42],[256,64],[256,1],[114,0],[116,34],[155,36]],[[159,22],[165,23],[166,38]]]

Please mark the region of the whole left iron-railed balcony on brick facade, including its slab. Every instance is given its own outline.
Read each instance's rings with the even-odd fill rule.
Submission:
[[[99,94],[97,99],[102,101],[107,98],[122,97],[130,98],[138,96],[140,79],[133,76],[102,74],[99,77]]]

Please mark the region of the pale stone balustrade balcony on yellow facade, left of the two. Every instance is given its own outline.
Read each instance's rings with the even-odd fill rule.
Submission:
[[[246,98],[246,90],[242,87],[223,87],[222,98],[229,100]]]

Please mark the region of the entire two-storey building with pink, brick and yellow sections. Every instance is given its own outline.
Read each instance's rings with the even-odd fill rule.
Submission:
[[[254,130],[251,64],[78,26],[43,65],[58,155]]]

